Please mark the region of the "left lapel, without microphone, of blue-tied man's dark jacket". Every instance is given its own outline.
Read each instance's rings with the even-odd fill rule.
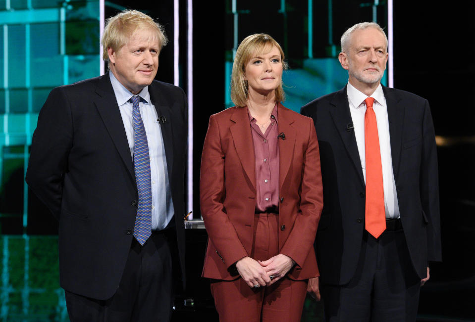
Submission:
[[[112,138],[122,161],[129,171],[132,181],[135,183],[135,171],[132,156],[130,155],[130,147],[108,73],[98,80],[96,93],[98,95],[95,99],[96,108],[106,125],[107,131]]]

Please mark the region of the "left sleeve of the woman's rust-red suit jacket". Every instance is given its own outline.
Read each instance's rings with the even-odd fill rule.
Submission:
[[[208,236],[225,265],[230,267],[248,253],[224,209],[224,158],[219,125],[211,115],[201,159],[200,202]]]

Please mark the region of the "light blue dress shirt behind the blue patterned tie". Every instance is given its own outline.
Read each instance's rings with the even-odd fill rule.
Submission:
[[[130,155],[134,155],[134,126],[132,117],[133,105],[129,99],[133,94],[127,90],[109,72],[110,82],[114,89],[117,105],[119,105],[120,115],[124,122],[125,133],[129,142]],[[139,94],[142,99],[139,103],[140,114],[144,122],[145,133],[149,145],[150,156],[150,177],[152,183],[152,230],[162,230],[170,222],[173,214],[173,202],[171,200],[170,183],[166,168],[165,146],[161,135],[160,124],[155,106],[150,100],[148,86]]]

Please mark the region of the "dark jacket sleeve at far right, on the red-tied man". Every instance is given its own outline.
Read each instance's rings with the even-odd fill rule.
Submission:
[[[427,259],[428,261],[442,260],[440,241],[439,216],[439,182],[437,167],[437,151],[435,132],[432,123],[429,103],[425,101],[423,119],[423,148],[421,165],[421,200],[422,210],[427,217]]]

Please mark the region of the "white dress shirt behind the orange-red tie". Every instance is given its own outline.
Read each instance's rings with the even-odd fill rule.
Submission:
[[[365,113],[368,98],[366,94],[358,91],[350,83],[346,88],[348,103],[350,104],[351,119],[353,121],[356,144],[360,154],[363,178],[366,184],[366,157],[365,157]],[[384,185],[384,209],[386,218],[399,218],[399,205],[397,201],[396,182],[391,159],[391,142],[389,140],[389,121],[387,113],[386,98],[384,97],[381,84],[371,94],[374,98],[373,110],[376,114],[378,125],[379,150],[381,152],[381,166],[383,171]]]

